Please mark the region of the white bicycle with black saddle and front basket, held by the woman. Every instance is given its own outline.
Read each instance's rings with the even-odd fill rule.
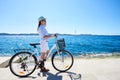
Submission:
[[[10,71],[18,77],[27,77],[31,75],[40,62],[37,59],[36,54],[39,55],[37,45],[40,43],[31,43],[30,46],[34,47],[33,53],[29,51],[20,51],[13,55],[9,61]],[[74,58],[72,54],[65,50],[65,40],[55,38],[53,47],[50,49],[50,52],[47,56],[47,59],[52,54],[52,51],[55,52],[51,56],[51,62],[54,69],[60,72],[68,71],[74,63]],[[25,49],[29,50],[29,49]],[[31,50],[31,49],[30,49]],[[16,52],[16,51],[15,51]]]

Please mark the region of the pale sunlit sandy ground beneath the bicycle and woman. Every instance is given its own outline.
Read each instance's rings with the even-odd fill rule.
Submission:
[[[0,57],[0,64],[10,57]],[[26,78],[14,76],[9,67],[0,68],[0,80],[120,80],[120,58],[75,58],[73,67],[64,73],[56,71],[50,61],[46,62],[48,73],[40,73],[39,69]],[[39,74],[39,75],[38,75]]]

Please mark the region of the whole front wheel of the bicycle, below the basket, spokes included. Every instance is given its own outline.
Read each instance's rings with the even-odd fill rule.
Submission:
[[[74,59],[70,52],[62,50],[55,52],[52,56],[53,67],[60,72],[69,70],[73,65]]]

